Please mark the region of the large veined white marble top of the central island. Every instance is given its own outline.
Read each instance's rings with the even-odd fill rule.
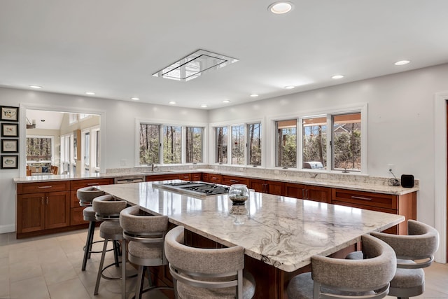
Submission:
[[[360,241],[360,236],[385,230],[403,216],[333,204],[255,193],[246,202],[247,215],[229,211],[228,195],[198,199],[153,188],[151,182],[99,186],[151,214],[225,246],[241,245],[248,256],[286,272],[311,262],[311,256],[328,256]],[[236,224],[237,222],[243,222]]]

